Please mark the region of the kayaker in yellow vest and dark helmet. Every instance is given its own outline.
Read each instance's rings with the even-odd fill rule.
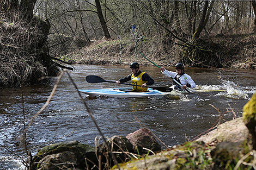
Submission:
[[[145,86],[153,85],[155,81],[153,78],[149,76],[149,74],[142,72],[139,70],[138,62],[132,62],[130,64],[131,74],[127,75],[125,78],[120,78],[119,80],[115,81],[115,83],[125,83],[126,81],[132,81],[132,84],[139,85],[139,86],[132,86],[133,92],[145,92],[148,91],[148,88]]]

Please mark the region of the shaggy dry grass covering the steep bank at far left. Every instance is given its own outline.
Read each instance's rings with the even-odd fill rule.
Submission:
[[[56,75],[56,67],[47,69],[51,62],[42,51],[47,39],[44,22],[34,18],[28,23],[19,12],[0,18],[0,86],[33,84],[49,72]]]

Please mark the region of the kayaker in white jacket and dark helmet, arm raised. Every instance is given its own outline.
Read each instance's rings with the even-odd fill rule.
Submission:
[[[190,75],[184,72],[184,65],[182,63],[179,62],[178,64],[176,64],[175,69],[176,72],[172,72],[165,70],[163,67],[160,68],[163,74],[173,79],[173,82],[175,83],[174,89],[186,89],[187,87],[193,89],[194,87],[196,87],[196,83],[194,83]]]

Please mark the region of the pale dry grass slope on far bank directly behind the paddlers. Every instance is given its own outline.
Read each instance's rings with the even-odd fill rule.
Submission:
[[[122,40],[121,49],[119,40],[101,40],[93,42],[90,46],[72,54],[75,56],[77,64],[98,64],[98,65],[128,65],[133,61],[139,62],[143,66],[152,64],[145,60],[141,54],[157,65],[170,65],[170,59],[178,61],[173,56],[178,51],[169,49],[168,51],[157,39],[138,42],[135,48],[133,40]],[[174,47],[175,48],[175,47]]]

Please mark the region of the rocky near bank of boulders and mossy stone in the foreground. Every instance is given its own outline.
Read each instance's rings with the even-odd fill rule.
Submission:
[[[251,104],[247,104],[246,114],[252,114],[251,106],[255,99],[256,94],[250,100]],[[255,150],[252,150],[249,141],[248,122],[245,119],[240,117],[225,122],[196,141],[185,142],[161,152],[153,134],[145,128],[126,137],[111,137],[107,141],[111,152],[105,143],[95,146],[96,149],[77,141],[51,144],[38,151],[32,161],[32,169],[57,169],[56,165],[58,168],[114,170],[251,169],[254,166],[252,161],[255,158],[252,155]],[[146,152],[143,153],[143,150]],[[110,153],[115,155],[115,159]]]

